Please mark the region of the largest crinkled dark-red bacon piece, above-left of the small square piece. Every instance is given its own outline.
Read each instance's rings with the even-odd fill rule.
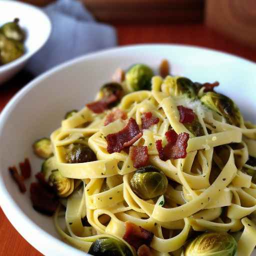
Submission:
[[[125,127],[115,133],[110,133],[106,136],[107,152],[120,152],[123,147],[132,145],[136,140],[142,136],[142,132],[136,121],[129,118]]]

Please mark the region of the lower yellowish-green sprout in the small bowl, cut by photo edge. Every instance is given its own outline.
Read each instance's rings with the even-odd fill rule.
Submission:
[[[24,54],[21,42],[8,39],[0,33],[0,63],[6,64]]]

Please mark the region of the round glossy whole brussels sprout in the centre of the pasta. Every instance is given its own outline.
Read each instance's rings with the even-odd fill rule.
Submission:
[[[164,173],[152,165],[138,168],[130,180],[132,191],[144,200],[164,194],[167,184]]]

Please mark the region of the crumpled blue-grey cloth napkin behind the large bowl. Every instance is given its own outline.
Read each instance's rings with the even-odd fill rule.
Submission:
[[[116,45],[114,28],[96,22],[77,0],[57,0],[43,10],[51,20],[52,31],[26,65],[35,75],[68,59]]]

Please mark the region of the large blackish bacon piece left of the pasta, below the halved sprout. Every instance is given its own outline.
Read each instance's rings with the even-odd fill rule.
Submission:
[[[44,180],[41,172],[35,177],[38,182],[30,185],[30,198],[33,208],[43,214],[51,216],[58,206],[58,198],[53,188]]]

